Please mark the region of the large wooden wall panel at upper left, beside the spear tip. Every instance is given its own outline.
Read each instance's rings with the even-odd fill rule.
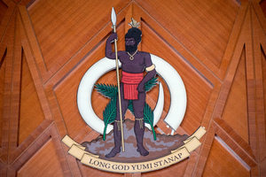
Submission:
[[[129,1],[39,1],[28,8],[46,72],[55,73],[109,22],[103,6],[121,11]],[[88,11],[90,9],[90,11]],[[49,12],[49,13],[47,13]],[[45,18],[43,18],[45,17]],[[54,30],[57,28],[57,30]],[[56,65],[57,64],[57,65]],[[44,74],[44,73],[43,73]]]

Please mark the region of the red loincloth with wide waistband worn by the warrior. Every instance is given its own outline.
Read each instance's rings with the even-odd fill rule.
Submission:
[[[121,82],[124,86],[124,98],[137,100],[137,86],[143,80],[143,73],[126,73],[122,71]]]

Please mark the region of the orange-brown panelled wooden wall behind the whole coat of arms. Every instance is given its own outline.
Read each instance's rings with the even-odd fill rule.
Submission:
[[[207,130],[190,158],[159,171],[103,172],[61,142],[99,135],[76,95],[84,73],[105,57],[112,7],[118,49],[133,17],[143,32],[139,50],[165,59],[184,81],[187,109],[175,134]],[[266,0],[0,0],[0,176],[266,176],[265,34]],[[171,96],[159,80],[166,91],[155,130],[168,135]],[[98,83],[116,84],[116,73]],[[158,90],[147,94],[152,108]],[[100,119],[108,102],[93,90]]]

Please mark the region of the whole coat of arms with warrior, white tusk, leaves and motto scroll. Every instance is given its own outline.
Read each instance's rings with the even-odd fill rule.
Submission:
[[[137,50],[142,31],[135,19],[129,23],[131,28],[124,38],[125,50],[117,50],[114,10],[111,18],[113,34],[106,40],[106,58],[100,59],[83,75],[77,93],[82,119],[100,136],[81,144],[68,135],[62,141],[70,148],[68,153],[82,164],[113,173],[145,173],[176,164],[200,146],[199,140],[206,131],[199,127],[191,136],[156,133],[153,127],[160,120],[164,106],[164,91],[157,75],[168,85],[171,103],[164,121],[173,133],[181,124],[186,109],[184,83],[167,61]],[[113,69],[116,69],[117,85],[95,84]],[[159,95],[152,109],[145,98],[154,87],[159,87]],[[92,89],[110,99],[103,110],[103,119],[98,118],[91,106]],[[128,110],[134,115],[134,121],[126,118]]]

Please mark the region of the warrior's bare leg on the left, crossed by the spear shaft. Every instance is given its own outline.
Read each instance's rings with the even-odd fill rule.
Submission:
[[[122,119],[125,118],[125,113],[127,112],[129,106],[129,100],[124,99],[123,87],[121,83],[121,115]],[[120,119],[120,106],[119,100],[117,96],[116,100],[116,118],[113,123],[113,140],[114,140],[114,147],[113,150],[106,155],[106,158],[113,158],[121,151],[121,119]]]

